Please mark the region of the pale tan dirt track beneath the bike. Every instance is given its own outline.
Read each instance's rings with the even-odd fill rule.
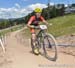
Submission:
[[[59,52],[57,61],[36,56],[31,53],[29,40],[21,44],[17,34],[18,31],[8,36],[6,54],[0,55],[0,68],[75,68],[75,56]]]

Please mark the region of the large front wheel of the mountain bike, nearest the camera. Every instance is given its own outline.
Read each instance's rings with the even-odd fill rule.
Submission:
[[[49,60],[57,59],[57,42],[53,35],[46,34],[43,39],[44,55]]]

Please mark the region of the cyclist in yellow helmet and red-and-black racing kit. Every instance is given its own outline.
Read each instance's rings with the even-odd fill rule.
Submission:
[[[33,41],[33,47],[34,47],[33,53],[39,54],[38,49],[35,48],[36,34],[35,34],[34,27],[39,26],[40,21],[44,22],[46,25],[48,24],[48,22],[44,19],[44,17],[41,16],[41,13],[42,13],[41,8],[35,8],[34,12],[35,12],[35,15],[30,17],[27,26],[30,28],[30,32],[32,34],[32,41]]]

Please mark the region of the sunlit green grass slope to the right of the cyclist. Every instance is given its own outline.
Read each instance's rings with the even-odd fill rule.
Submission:
[[[48,20],[48,22],[53,24],[49,26],[49,33],[52,33],[54,36],[75,33],[75,14],[57,17]]]

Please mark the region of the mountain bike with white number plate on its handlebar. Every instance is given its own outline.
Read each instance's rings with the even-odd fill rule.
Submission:
[[[34,27],[35,29],[40,29],[39,32],[36,34],[36,48],[39,49],[41,55],[46,57],[49,60],[56,60],[57,59],[57,42],[54,36],[50,33],[47,33],[47,26],[40,25],[39,27]],[[31,46],[33,48],[33,41],[31,39]]]

